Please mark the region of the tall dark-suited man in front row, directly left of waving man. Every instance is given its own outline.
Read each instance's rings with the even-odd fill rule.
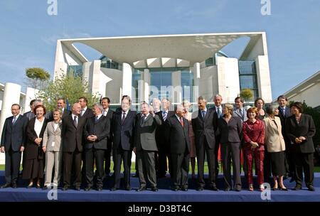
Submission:
[[[129,96],[122,97],[121,110],[112,116],[112,136],[113,136],[113,163],[114,163],[114,186],[111,191],[120,188],[121,163],[124,167],[124,189],[131,190],[130,187],[130,167],[132,148],[134,141],[134,125],[137,112],[130,110],[131,99]]]

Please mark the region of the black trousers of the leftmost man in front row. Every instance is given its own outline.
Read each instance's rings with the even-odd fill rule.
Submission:
[[[13,151],[11,146],[6,151],[6,166],[5,166],[5,176],[6,183],[16,183],[18,180],[18,173],[21,161],[21,151]]]

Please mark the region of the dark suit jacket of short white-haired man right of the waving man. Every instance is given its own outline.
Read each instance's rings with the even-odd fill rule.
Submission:
[[[185,153],[186,150],[190,153],[189,122],[187,119],[183,118],[183,127],[176,115],[166,119],[164,135],[171,153]]]

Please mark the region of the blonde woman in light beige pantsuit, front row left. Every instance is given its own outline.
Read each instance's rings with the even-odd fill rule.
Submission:
[[[61,144],[61,124],[62,111],[53,111],[53,121],[50,121],[43,135],[43,151],[46,152],[46,180],[43,190],[51,186],[53,166],[55,173],[53,177],[53,187],[58,187],[61,177],[62,165],[62,144]]]

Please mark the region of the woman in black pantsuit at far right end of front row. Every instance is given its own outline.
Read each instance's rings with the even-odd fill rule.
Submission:
[[[302,189],[304,180],[306,187],[314,191],[314,142],[312,136],[316,134],[314,120],[308,114],[303,114],[301,102],[294,102],[290,106],[292,116],[286,120],[286,133],[292,142],[292,153],[294,154],[295,180],[294,190]]]

